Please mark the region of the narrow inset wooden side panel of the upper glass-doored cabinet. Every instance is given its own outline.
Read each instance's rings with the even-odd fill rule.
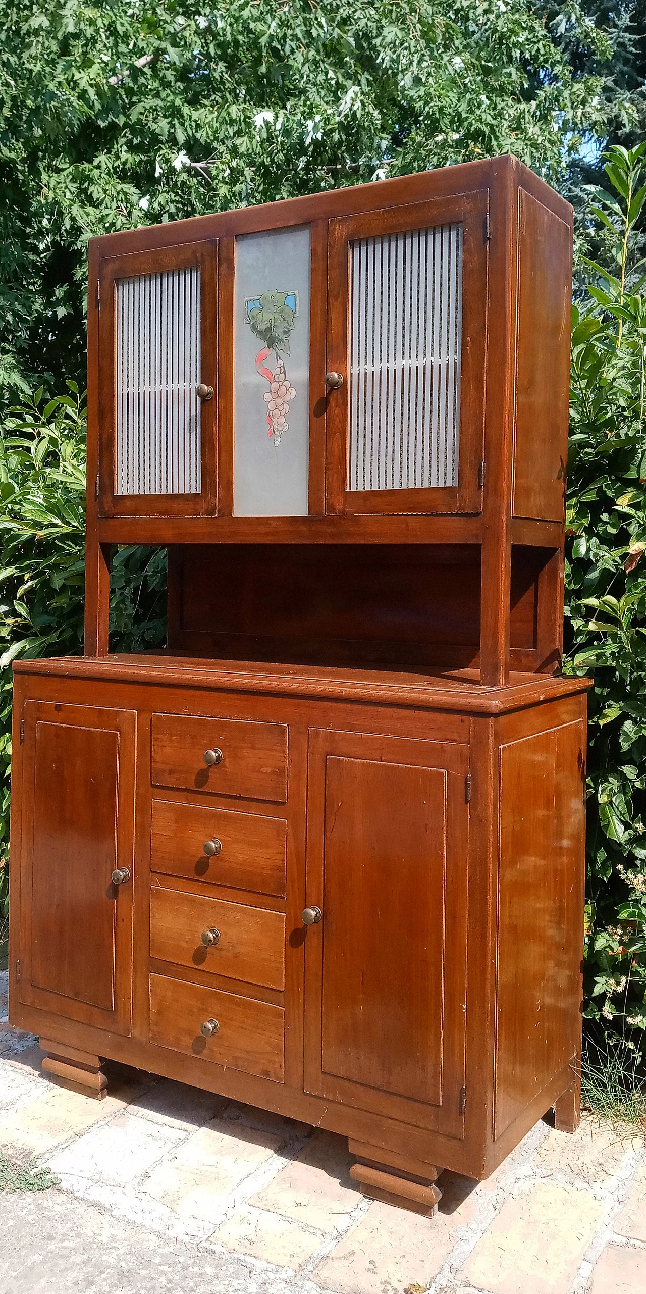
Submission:
[[[514,516],[561,521],[570,399],[572,232],[519,190]]]

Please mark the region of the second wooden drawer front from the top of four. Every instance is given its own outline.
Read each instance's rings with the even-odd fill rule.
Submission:
[[[205,844],[220,845],[205,854]],[[284,818],[153,801],[150,870],[285,898]]]

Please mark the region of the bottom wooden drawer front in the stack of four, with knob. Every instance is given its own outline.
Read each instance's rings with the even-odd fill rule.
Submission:
[[[199,1026],[207,1020],[216,1020],[220,1027],[210,1038],[202,1038]],[[276,1083],[284,1080],[282,1007],[151,974],[149,1035],[158,1047],[272,1078]]]

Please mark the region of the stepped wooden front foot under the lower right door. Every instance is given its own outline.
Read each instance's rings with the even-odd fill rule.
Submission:
[[[348,1148],[351,1154],[359,1156],[350,1176],[359,1183],[361,1194],[394,1205],[395,1209],[408,1209],[423,1218],[432,1218],[438,1212],[441,1190],[435,1185],[438,1168],[432,1163],[364,1145],[361,1141],[348,1140]]]

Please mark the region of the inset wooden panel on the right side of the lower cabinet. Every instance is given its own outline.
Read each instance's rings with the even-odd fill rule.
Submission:
[[[583,723],[500,748],[495,1136],[579,1051]]]

